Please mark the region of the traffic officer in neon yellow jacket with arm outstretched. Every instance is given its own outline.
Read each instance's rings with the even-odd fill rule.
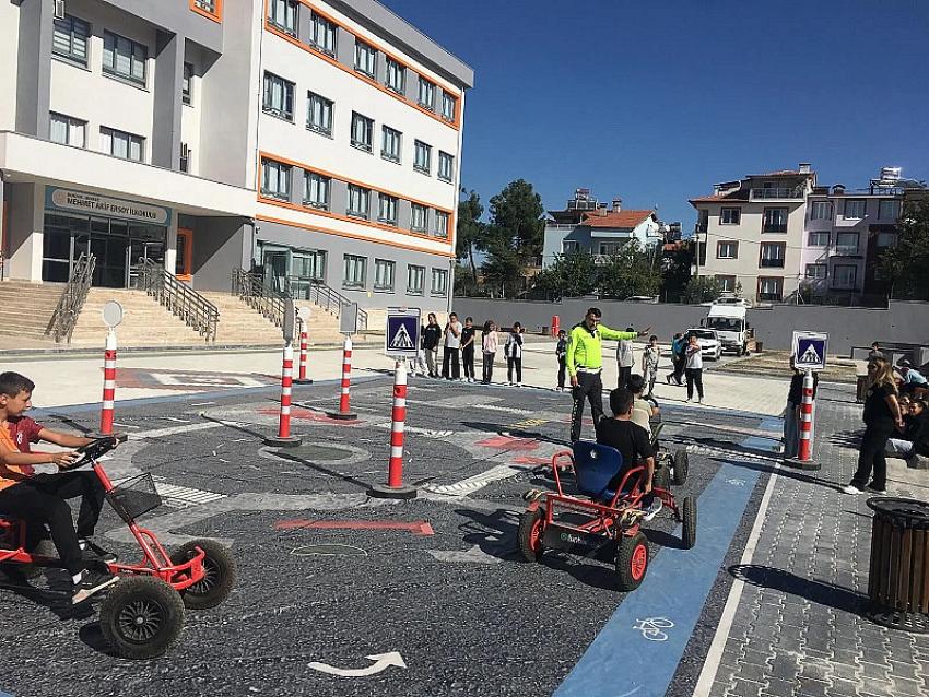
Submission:
[[[603,416],[603,371],[602,340],[635,339],[651,331],[648,327],[639,332],[616,331],[600,323],[602,312],[599,307],[587,310],[584,321],[575,324],[568,334],[567,373],[571,376],[571,394],[574,407],[571,412],[571,441],[580,439],[580,425],[584,416],[584,399],[590,402],[590,414],[596,428]],[[620,386],[623,387],[623,386]]]

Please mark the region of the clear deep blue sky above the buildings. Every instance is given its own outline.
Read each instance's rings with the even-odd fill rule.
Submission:
[[[531,181],[659,206],[810,162],[865,186],[929,179],[924,0],[383,0],[469,63],[462,185],[484,202]]]

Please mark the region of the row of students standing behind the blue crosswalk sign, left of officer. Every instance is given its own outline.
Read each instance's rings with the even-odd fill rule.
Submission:
[[[421,329],[420,346],[415,358],[411,358],[410,373],[431,378],[477,382],[474,377],[474,353],[478,341],[474,318],[466,317],[462,324],[456,312],[450,312],[445,329],[438,323],[435,312],[430,312],[427,323]],[[522,387],[522,324],[513,322],[504,343],[506,377],[509,385]],[[481,355],[483,357],[481,382],[490,385],[494,377],[494,361],[499,350],[497,326],[492,319],[481,329]],[[442,371],[438,368],[438,350],[443,349]],[[461,377],[461,373],[465,377]],[[514,378],[516,380],[514,381]]]

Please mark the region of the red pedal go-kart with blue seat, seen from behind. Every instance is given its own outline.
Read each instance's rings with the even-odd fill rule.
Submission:
[[[608,446],[579,440],[552,457],[557,492],[530,492],[529,507],[519,521],[519,551],[538,562],[545,550],[592,556],[610,542],[616,544],[619,588],[638,588],[648,570],[648,540],[640,531],[645,468],[631,468],[616,489],[610,481],[622,470],[622,456]],[[579,495],[562,486],[560,470],[574,470]],[[679,507],[667,486],[652,480],[652,492],[683,528],[683,546],[696,543],[696,500],[687,496]]]

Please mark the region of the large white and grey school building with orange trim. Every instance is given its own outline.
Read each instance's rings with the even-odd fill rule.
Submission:
[[[442,309],[473,72],[374,0],[0,3],[3,277]]]

